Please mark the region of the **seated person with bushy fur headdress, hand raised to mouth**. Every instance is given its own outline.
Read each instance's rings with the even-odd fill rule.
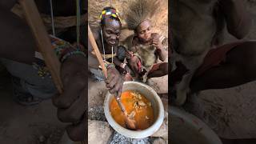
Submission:
[[[151,32],[150,19],[158,10],[158,1],[131,1],[126,10],[126,23],[134,34],[122,43],[126,47],[126,59],[134,78],[143,79],[161,77],[168,74],[166,52],[163,50],[162,35]],[[156,63],[158,58],[162,61]]]

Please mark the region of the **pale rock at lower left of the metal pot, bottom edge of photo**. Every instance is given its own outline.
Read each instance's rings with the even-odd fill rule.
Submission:
[[[88,143],[106,144],[113,130],[107,122],[88,120]]]

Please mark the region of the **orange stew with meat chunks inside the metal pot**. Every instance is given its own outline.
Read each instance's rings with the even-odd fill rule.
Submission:
[[[154,114],[151,103],[142,94],[127,90],[122,93],[121,102],[123,106],[125,106],[129,117],[135,120],[137,130],[144,130],[153,124]],[[110,103],[110,112],[119,125],[126,127],[124,114],[119,108],[115,98],[113,98]]]

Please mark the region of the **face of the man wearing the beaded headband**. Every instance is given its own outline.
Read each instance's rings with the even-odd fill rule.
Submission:
[[[121,33],[120,22],[111,18],[106,18],[105,21],[105,26],[102,29],[103,38],[108,45],[117,45]]]

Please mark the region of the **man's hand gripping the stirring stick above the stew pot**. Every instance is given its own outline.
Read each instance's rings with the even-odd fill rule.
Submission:
[[[120,98],[122,94],[122,84],[123,79],[118,70],[114,67],[107,69],[107,79],[106,79],[106,88],[109,89],[111,94],[114,94],[115,97]]]

